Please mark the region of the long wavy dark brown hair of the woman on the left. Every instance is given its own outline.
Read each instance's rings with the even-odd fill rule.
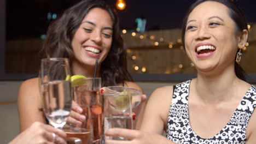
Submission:
[[[45,57],[66,57],[72,59],[72,40],[82,20],[92,8],[101,8],[108,11],[113,22],[112,45],[109,53],[101,63],[102,86],[118,85],[124,81],[132,81],[127,71],[126,49],[120,35],[117,11],[110,8],[101,0],[83,0],[68,8],[53,21],[48,28],[47,38],[43,50]]]

